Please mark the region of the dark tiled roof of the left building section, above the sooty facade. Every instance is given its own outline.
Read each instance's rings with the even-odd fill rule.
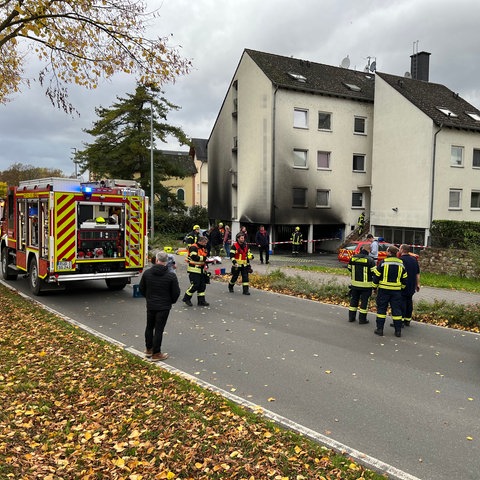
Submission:
[[[373,102],[375,75],[332,67],[298,58],[245,49],[271,82],[280,88],[301,90]]]

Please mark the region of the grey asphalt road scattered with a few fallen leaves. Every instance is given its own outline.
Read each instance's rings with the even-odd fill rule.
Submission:
[[[23,279],[8,283],[27,292]],[[385,462],[397,478],[480,478],[478,335],[412,322],[400,339],[388,327],[377,337],[373,316],[350,324],[344,307],[251,291],[229,294],[213,281],[210,307],[175,305],[166,364],[355,449],[367,464]],[[145,301],[132,292],[82,282],[36,299],[141,352]]]

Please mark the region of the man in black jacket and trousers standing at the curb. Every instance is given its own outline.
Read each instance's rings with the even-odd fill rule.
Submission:
[[[167,261],[167,253],[158,252],[155,265],[145,270],[139,285],[147,303],[145,355],[154,362],[168,358],[168,353],[162,353],[163,331],[172,305],[180,296],[177,276],[168,270]]]

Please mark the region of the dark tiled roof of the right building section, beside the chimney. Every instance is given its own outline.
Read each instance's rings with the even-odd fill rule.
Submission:
[[[480,131],[480,111],[444,85],[380,72],[377,75],[437,125]]]

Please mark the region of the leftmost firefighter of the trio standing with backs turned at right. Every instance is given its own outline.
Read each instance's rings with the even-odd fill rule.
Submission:
[[[372,278],[375,269],[375,261],[370,258],[370,244],[362,245],[360,253],[354,255],[348,262],[347,268],[351,274],[350,307],[348,309],[348,321],[354,322],[358,310],[358,323],[368,323],[368,301],[372,295]],[[360,304],[360,307],[359,307]]]

